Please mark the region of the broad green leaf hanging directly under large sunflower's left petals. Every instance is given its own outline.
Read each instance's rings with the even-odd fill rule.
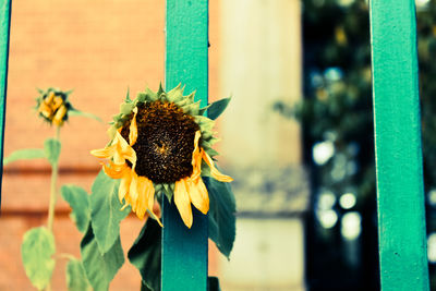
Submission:
[[[120,235],[120,222],[131,211],[131,207],[121,210],[118,199],[120,180],[114,180],[101,170],[92,187],[90,218],[98,247],[102,254],[108,252]]]

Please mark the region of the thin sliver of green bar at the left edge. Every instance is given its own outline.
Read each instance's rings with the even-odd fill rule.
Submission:
[[[8,85],[8,58],[9,58],[9,33],[11,26],[11,0],[2,0],[0,4],[0,167],[3,168],[3,142],[4,142],[4,118],[7,106]],[[0,178],[0,190],[1,190]],[[0,191],[1,208],[1,191]]]

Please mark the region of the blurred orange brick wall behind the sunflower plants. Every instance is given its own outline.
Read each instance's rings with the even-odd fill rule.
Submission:
[[[210,1],[210,96],[218,93],[218,1]],[[60,182],[90,190],[98,161],[89,155],[106,145],[107,121],[118,112],[128,87],[132,95],[164,81],[165,1],[41,0],[13,1],[4,155],[43,147],[55,134],[33,111],[36,87],[74,89],[77,109],[99,116],[105,124],[71,118],[62,129]],[[46,223],[50,168],[44,160],[14,162],[4,168],[0,218],[0,290],[34,290],[24,274],[20,245],[23,233]],[[59,198],[55,232],[57,254],[80,255],[81,233]],[[126,251],[142,222],[122,222]],[[214,252],[214,251],[213,251]],[[52,290],[66,290],[65,259],[59,258]],[[216,272],[215,256],[209,258]],[[138,290],[138,271],[125,263],[110,290]]]

